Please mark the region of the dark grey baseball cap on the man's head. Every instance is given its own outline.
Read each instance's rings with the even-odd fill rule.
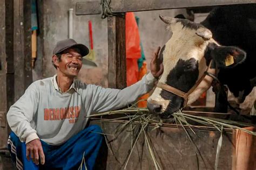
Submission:
[[[64,39],[57,42],[55,48],[53,49],[53,55],[71,47],[78,48],[82,56],[89,54],[89,49],[85,45],[77,44],[77,42],[73,39]]]

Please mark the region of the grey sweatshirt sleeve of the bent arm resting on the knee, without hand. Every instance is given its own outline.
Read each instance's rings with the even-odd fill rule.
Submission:
[[[36,130],[32,129],[30,122],[38,108],[38,93],[35,84],[31,84],[19,100],[10,107],[7,121],[11,130],[22,142],[30,136],[30,141],[38,138]],[[31,139],[31,136],[33,139]],[[26,141],[28,143],[29,141]]]

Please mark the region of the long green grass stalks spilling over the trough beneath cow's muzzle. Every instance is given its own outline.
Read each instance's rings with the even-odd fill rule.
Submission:
[[[103,112],[103,113],[99,113],[99,114],[95,114],[95,115],[90,115],[88,117],[89,118],[93,117],[93,119],[102,119],[102,116],[105,116],[105,115],[118,116],[118,117],[112,118],[111,120],[120,120],[120,119],[125,120],[124,124],[120,125],[119,128],[117,128],[116,131],[113,132],[113,134],[105,134],[105,139],[106,139],[107,145],[111,141],[115,140],[122,132],[127,132],[127,128],[130,128],[129,132],[131,132],[130,135],[132,137],[131,149],[130,149],[129,154],[127,155],[126,161],[123,164],[124,169],[126,168],[127,164],[129,163],[129,159],[130,159],[131,153],[133,152],[133,148],[134,148],[134,146],[136,146],[136,143],[140,136],[143,136],[145,138],[145,144],[147,145],[147,149],[151,155],[152,164],[154,165],[154,167],[156,169],[161,169],[161,166],[159,165],[159,162],[156,159],[157,153],[153,149],[153,144],[151,143],[151,139],[149,138],[149,135],[147,134],[148,133],[147,126],[149,124],[151,124],[151,125],[154,124],[155,126],[152,130],[160,130],[161,126],[163,126],[165,124],[165,123],[163,123],[164,122],[163,119],[161,119],[159,116],[156,116],[156,115],[150,115],[149,110],[147,110],[146,108],[137,108],[134,105],[132,107],[128,107],[126,109],[107,111],[107,112]],[[241,131],[244,131],[246,133],[256,136],[256,132],[241,128],[241,127],[246,127],[246,126],[254,126],[252,124],[228,121],[225,119],[212,118],[212,117],[188,115],[188,114],[184,114],[181,111],[175,112],[174,114],[172,114],[172,116],[173,116],[172,123],[177,124],[177,126],[181,126],[181,128],[184,129],[184,131],[187,134],[188,138],[190,139],[191,143],[194,145],[194,150],[197,154],[197,157],[199,155],[199,157],[201,157],[201,159],[203,161],[204,161],[204,158],[200,154],[198,147],[196,146],[196,144],[194,143],[190,134],[188,133],[189,129],[186,129],[185,126],[186,127],[188,126],[190,128],[190,130],[194,134],[196,134],[196,132],[193,131],[193,127],[196,127],[196,126],[190,124],[190,121],[193,121],[193,122],[197,122],[201,125],[213,127],[214,129],[218,130],[221,133],[219,141],[218,141],[217,154],[216,154],[216,159],[215,159],[215,167],[218,167],[219,152],[220,152],[222,138],[223,138],[222,134],[223,134],[223,131],[225,131],[224,128],[232,129],[232,130],[239,129]],[[136,128],[139,128],[139,129],[137,129],[137,132],[134,132],[134,129],[136,129]],[[134,134],[136,134],[136,135],[134,135]],[[109,141],[106,137],[107,135],[111,135],[114,138],[111,141]],[[109,150],[113,153],[113,151],[111,150],[111,147],[109,147]],[[113,153],[113,155],[114,155],[114,153]],[[199,162],[197,162],[197,164],[199,166]]]

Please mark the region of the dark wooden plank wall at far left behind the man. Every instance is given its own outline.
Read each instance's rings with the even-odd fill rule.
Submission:
[[[31,2],[1,1],[0,57],[0,148],[6,147],[10,128],[6,112],[32,82]]]

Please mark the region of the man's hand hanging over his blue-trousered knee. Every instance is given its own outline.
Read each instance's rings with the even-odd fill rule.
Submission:
[[[39,164],[39,155],[41,164],[44,165],[44,151],[39,139],[35,139],[26,144],[26,159],[33,160],[33,162],[38,165]]]

